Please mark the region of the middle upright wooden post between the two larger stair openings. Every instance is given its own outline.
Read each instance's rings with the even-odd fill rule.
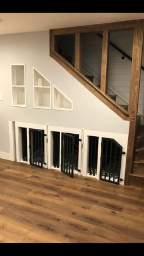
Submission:
[[[107,60],[109,50],[109,31],[105,29],[103,31],[103,48],[101,58],[101,90],[106,93],[107,87]]]

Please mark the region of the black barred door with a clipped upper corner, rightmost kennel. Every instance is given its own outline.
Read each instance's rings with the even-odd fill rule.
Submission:
[[[115,139],[102,138],[100,180],[119,184],[122,150]]]

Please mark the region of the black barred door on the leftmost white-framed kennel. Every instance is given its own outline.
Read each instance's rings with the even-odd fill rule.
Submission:
[[[30,164],[43,168],[44,161],[44,131],[29,129]]]

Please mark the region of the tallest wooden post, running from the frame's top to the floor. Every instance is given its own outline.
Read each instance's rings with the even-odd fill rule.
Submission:
[[[142,49],[143,49],[143,32],[144,27],[142,21],[137,21],[134,29],[134,42],[132,48],[132,65],[131,65],[131,87],[129,92],[129,117],[133,117],[134,121],[130,122],[128,150],[126,159],[126,173],[124,185],[129,185],[129,174],[132,170],[132,159],[134,155],[134,141],[137,124],[137,110],[139,102],[140,72],[142,65]]]

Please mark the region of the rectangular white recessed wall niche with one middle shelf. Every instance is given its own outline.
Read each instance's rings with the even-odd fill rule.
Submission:
[[[25,64],[11,64],[12,106],[26,107]]]

